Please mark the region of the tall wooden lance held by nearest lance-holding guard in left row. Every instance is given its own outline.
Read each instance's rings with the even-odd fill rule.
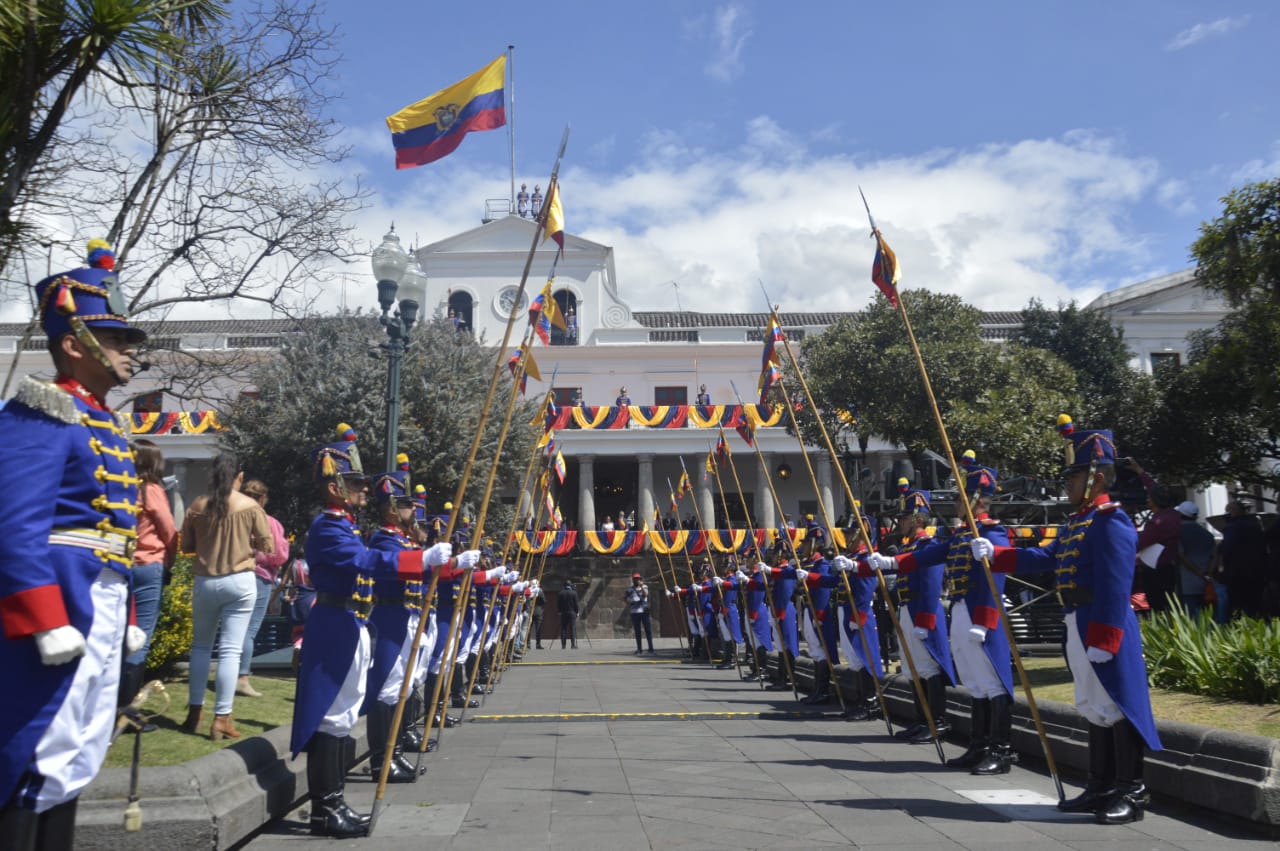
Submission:
[[[564,128],[564,134],[561,137],[559,151],[556,154],[556,164],[552,166],[552,182],[554,182],[556,180],[556,175],[559,174],[561,160],[564,157],[564,148],[566,148],[567,145],[568,145],[568,127]],[[525,292],[525,285],[529,283],[529,271],[530,271],[530,269],[532,269],[534,256],[538,253],[538,237],[541,234],[541,230],[543,230],[543,227],[545,225],[545,223],[547,223],[545,216],[544,215],[539,215],[536,227],[534,228],[532,243],[529,247],[529,256],[525,258],[525,270],[524,270],[524,273],[522,273],[522,275],[520,278],[520,290],[516,293],[516,303],[517,305],[520,302],[520,297]],[[458,514],[461,513],[462,500],[463,500],[463,497],[466,495],[466,488],[470,484],[471,466],[475,463],[476,456],[480,452],[480,440],[481,440],[481,438],[484,435],[485,421],[489,417],[489,407],[493,404],[493,397],[494,397],[495,390],[498,389],[498,376],[502,375],[503,358],[507,356],[507,344],[511,342],[511,329],[515,325],[515,321],[516,321],[516,317],[515,317],[515,311],[513,311],[512,316],[508,317],[508,320],[507,320],[507,330],[506,330],[506,333],[503,335],[503,339],[502,339],[502,347],[498,348],[498,356],[497,356],[497,360],[495,360],[494,366],[493,366],[493,374],[489,376],[489,389],[488,389],[488,392],[485,394],[484,404],[480,407],[480,416],[479,416],[479,418],[476,421],[475,436],[471,439],[471,449],[467,453],[467,461],[466,461],[466,463],[462,466],[462,476],[458,480],[458,488],[457,488],[457,491],[456,491],[454,498],[453,498],[453,504],[458,505],[458,508],[456,511],[453,511],[452,514],[449,514],[449,523],[445,527],[445,532],[444,532],[444,539],[445,540],[449,540],[449,539],[453,537],[453,527],[457,523]],[[470,573],[470,571],[468,571],[468,573]],[[440,578],[439,568],[433,569],[431,571],[431,584],[430,584],[429,594],[422,598],[425,605],[430,605],[431,595],[434,595],[435,591],[436,591],[436,585],[439,582],[439,578]],[[463,577],[462,585],[467,585],[466,577]],[[417,659],[417,649],[419,649],[419,646],[421,646],[421,642],[422,642],[422,632],[426,628],[426,617],[425,617],[425,614],[426,614],[426,612],[424,609],[424,617],[419,619],[417,630],[413,633],[413,644],[410,648],[408,659],[406,660],[406,664],[404,664],[404,680],[401,682],[399,699],[396,701],[396,713],[392,717],[392,727],[390,728],[393,731],[398,731],[399,729],[401,723],[402,723],[402,720],[404,718],[404,700],[407,699],[408,691],[410,691],[410,686],[413,682],[413,663]],[[448,645],[445,645],[445,649],[447,648],[448,648]],[[442,673],[443,673],[443,671],[442,671]],[[439,700],[439,691],[440,691],[440,677],[436,677],[435,688],[433,690],[434,694],[431,696],[431,703],[428,706],[428,712],[435,712],[435,706],[436,706],[436,703]],[[448,714],[447,712],[442,712],[440,713],[442,727],[443,727],[443,718],[447,714]],[[387,740],[387,750],[383,754],[383,770],[378,775],[378,790],[376,790],[376,792],[374,795],[374,811],[372,811],[372,814],[370,815],[370,819],[369,819],[369,831],[367,831],[366,836],[372,836],[374,834],[374,828],[378,825],[378,816],[381,814],[381,810],[385,806],[387,778],[388,778],[388,775],[390,773],[390,765],[392,765],[392,759],[393,759],[393,750],[394,750],[394,745],[396,745],[396,738],[397,737],[389,736],[388,740]],[[430,738],[430,726],[428,726],[428,729],[425,731],[425,735],[422,736],[422,750],[419,751],[419,765],[417,765],[417,768],[421,768],[422,754],[426,751],[426,744],[428,744],[429,738]]]

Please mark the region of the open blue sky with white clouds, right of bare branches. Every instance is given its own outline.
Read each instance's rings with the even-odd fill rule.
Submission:
[[[384,119],[516,45],[517,183],[566,124],[571,233],[614,247],[636,308],[856,310],[858,186],[904,285],[984,308],[1189,265],[1233,186],[1280,173],[1272,3],[332,4],[335,118],[428,243],[508,193],[507,131],[396,171]],[[364,278],[364,270],[358,270]]]

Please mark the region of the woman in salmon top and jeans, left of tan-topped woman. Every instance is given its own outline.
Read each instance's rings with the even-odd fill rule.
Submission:
[[[137,626],[147,639],[142,648],[124,658],[120,672],[119,704],[127,705],[142,687],[146,676],[147,653],[151,650],[151,636],[160,619],[160,594],[164,590],[173,559],[178,553],[178,530],[169,509],[169,497],[165,494],[164,456],[150,440],[133,443],[133,463],[141,480],[141,499],[138,507],[138,545],[133,550],[133,576],[131,593]]]

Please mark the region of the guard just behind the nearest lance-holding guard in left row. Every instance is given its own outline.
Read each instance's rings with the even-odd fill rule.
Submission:
[[[402,553],[417,549],[410,536],[413,529],[413,499],[408,495],[408,456],[396,458],[398,470],[374,479],[374,513],[379,526],[369,536],[369,549],[384,553]],[[375,777],[381,774],[387,741],[392,737],[392,722],[399,703],[401,685],[408,651],[413,644],[419,619],[422,617],[422,581],[403,581],[393,577],[374,580],[374,609],[369,616],[374,636],[372,664],[365,690],[364,712],[369,718],[369,768]],[[403,723],[416,719],[417,708],[406,701]],[[393,750],[388,783],[413,782],[413,767],[403,756],[404,744],[399,736]]]

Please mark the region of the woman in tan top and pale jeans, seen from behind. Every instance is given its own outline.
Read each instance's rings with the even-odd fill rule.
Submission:
[[[182,525],[182,549],[196,557],[191,591],[191,678],[183,727],[188,732],[200,727],[214,633],[221,624],[221,632],[218,632],[214,724],[209,731],[214,741],[224,736],[239,737],[232,723],[232,704],[244,633],[257,599],[253,553],[273,550],[266,512],[256,499],[239,493],[243,480],[239,459],[232,453],[219,454],[214,459],[210,493],[191,504]]]

